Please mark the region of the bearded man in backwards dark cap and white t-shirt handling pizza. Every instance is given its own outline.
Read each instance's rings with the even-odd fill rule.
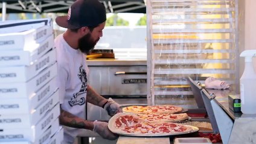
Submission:
[[[117,135],[109,131],[107,122],[86,121],[88,103],[107,110],[110,116],[121,112],[120,105],[97,94],[87,83],[88,67],[85,54],[94,49],[106,22],[106,10],[98,0],[77,0],[68,16],[56,18],[56,23],[67,28],[55,40],[57,49],[57,83],[60,91],[60,124],[64,128],[64,143],[74,143],[85,129],[93,130],[104,139],[114,140]]]

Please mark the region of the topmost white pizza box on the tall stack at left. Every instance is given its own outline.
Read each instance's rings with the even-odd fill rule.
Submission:
[[[51,19],[6,20],[0,23],[0,34],[28,31],[41,26],[52,26]]]

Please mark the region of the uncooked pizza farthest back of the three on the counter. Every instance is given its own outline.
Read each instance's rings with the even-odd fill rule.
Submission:
[[[179,113],[182,110],[182,107],[173,105],[123,107],[123,112],[126,113]]]

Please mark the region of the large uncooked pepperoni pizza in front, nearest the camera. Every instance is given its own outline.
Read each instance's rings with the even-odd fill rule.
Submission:
[[[147,121],[133,114],[118,113],[110,119],[109,130],[132,136],[165,136],[190,133],[198,128],[172,122]]]

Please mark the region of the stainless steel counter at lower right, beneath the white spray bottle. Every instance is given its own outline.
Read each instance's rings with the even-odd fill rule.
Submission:
[[[234,113],[228,107],[228,95],[235,94],[235,92],[217,89],[206,90],[216,95],[216,97],[211,100],[211,104],[213,109],[216,110],[214,115],[220,129],[223,143],[255,143],[256,115],[245,115],[241,112]]]

